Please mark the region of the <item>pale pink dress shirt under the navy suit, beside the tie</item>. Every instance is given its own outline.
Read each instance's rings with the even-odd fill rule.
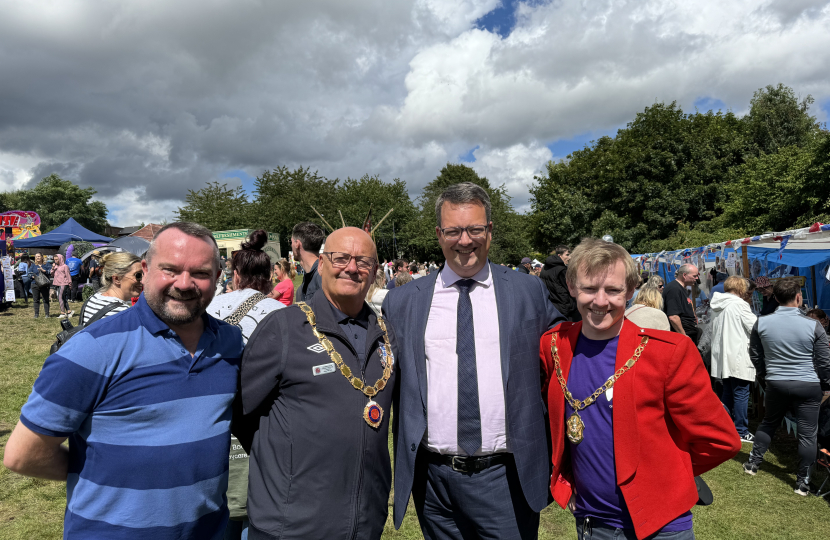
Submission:
[[[464,455],[458,447],[458,289],[462,279],[445,265],[435,282],[424,345],[427,368],[427,430],[424,443],[440,454]],[[473,278],[470,289],[475,326],[481,448],[475,455],[509,451],[501,374],[499,319],[490,264]]]

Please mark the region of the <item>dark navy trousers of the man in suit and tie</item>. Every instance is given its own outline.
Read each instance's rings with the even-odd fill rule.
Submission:
[[[426,540],[538,538],[539,514],[525,500],[512,456],[506,463],[461,473],[429,462],[426,453],[418,451],[412,487]]]

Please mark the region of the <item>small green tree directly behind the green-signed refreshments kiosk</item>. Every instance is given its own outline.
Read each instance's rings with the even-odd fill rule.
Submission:
[[[185,205],[176,212],[176,220],[192,221],[212,231],[248,228],[250,207],[242,186],[208,182],[202,189],[187,190]]]

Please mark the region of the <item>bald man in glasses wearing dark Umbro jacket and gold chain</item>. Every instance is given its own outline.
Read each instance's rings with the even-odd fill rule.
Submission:
[[[350,249],[337,247],[338,233],[356,238],[365,234],[339,229],[326,242],[332,252]],[[378,351],[383,332],[363,302],[365,291],[362,308],[350,316],[329,300],[327,287],[336,287],[340,279],[331,278],[339,270],[328,253],[320,257],[323,288],[309,302],[317,330],[352,374],[362,374],[374,385],[383,377]],[[354,279],[374,279],[376,265],[371,272],[357,270],[354,259],[348,265]],[[397,358],[395,333],[388,324],[387,332]],[[365,345],[356,347],[360,342]],[[380,538],[392,482],[387,438],[396,372],[397,365],[386,387],[373,397],[383,409],[380,425],[373,428],[363,418],[369,398],[335,368],[298,306],[275,311],[260,322],[242,358],[232,427],[250,454],[249,539]]]

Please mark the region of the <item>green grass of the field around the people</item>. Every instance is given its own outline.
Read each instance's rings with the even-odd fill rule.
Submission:
[[[74,306],[77,309],[80,304]],[[0,453],[59,328],[58,319],[44,319],[42,313],[40,319],[33,319],[31,304],[26,308],[18,302],[0,313]],[[692,510],[697,538],[817,540],[830,536],[828,500],[793,494],[795,439],[783,428],[779,430],[767,462],[755,477],[741,472],[749,450],[744,445],[735,459],[704,475],[715,503]],[[816,479],[820,483],[823,476]],[[668,487],[672,479],[665,481]],[[0,539],[61,538],[65,502],[63,484],[23,478],[0,467]],[[547,508],[539,537],[575,539],[573,518],[556,505]],[[398,531],[392,526],[390,507],[383,538],[421,538],[411,504]]]

